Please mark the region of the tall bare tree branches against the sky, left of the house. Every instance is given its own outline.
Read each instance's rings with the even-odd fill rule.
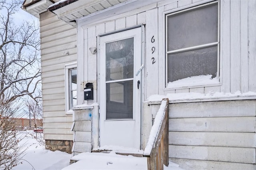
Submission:
[[[0,0],[0,99],[6,102],[24,95],[36,99],[33,94],[41,81],[38,28],[33,22],[14,23],[12,15],[20,6],[18,0]]]

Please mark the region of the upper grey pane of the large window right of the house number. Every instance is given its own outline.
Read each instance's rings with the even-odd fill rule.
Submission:
[[[168,51],[218,42],[218,3],[167,17]]]

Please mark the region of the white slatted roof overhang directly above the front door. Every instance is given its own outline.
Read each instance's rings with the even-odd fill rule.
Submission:
[[[65,1],[68,0],[62,0]],[[159,0],[74,0],[72,3],[61,5],[57,2],[56,5],[51,5],[49,10],[61,20],[76,26],[78,20],[103,20],[155,2]]]

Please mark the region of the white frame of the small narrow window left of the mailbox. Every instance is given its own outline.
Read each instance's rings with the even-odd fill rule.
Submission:
[[[65,69],[65,111],[66,111],[66,115],[72,115],[74,113],[74,110],[72,110],[72,108],[70,108],[70,102],[71,102],[71,91],[72,89],[70,89],[70,71],[73,69],[77,70],[77,63],[68,63],[64,66]],[[73,90],[74,91],[74,90]],[[76,87],[76,91],[77,91],[77,87]]]

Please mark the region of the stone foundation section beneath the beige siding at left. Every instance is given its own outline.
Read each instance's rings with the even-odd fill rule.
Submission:
[[[71,140],[45,140],[45,144],[46,149],[72,153],[73,141]]]

